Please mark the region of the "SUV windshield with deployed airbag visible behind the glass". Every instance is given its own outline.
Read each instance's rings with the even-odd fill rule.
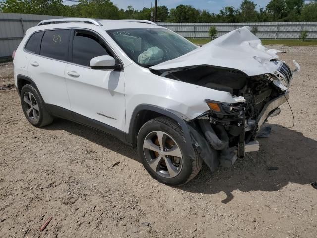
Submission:
[[[197,48],[164,28],[117,29],[107,33],[134,62],[143,67],[175,59]]]

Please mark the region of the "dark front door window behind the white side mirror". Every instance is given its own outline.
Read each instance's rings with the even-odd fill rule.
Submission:
[[[75,30],[73,39],[72,62],[89,66],[90,60],[97,56],[110,55],[105,43],[94,33]]]

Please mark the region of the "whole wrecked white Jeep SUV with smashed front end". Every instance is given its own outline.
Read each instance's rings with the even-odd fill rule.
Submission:
[[[259,149],[293,76],[276,53],[246,27],[199,48],[149,21],[53,19],[26,32],[14,77],[32,125],[60,117],[111,134],[180,185],[203,161],[214,171]]]

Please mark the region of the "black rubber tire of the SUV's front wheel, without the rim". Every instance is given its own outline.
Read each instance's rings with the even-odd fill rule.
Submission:
[[[147,136],[155,131],[162,131],[172,137],[176,142],[182,154],[182,167],[178,174],[173,178],[166,178],[161,176],[158,172],[154,171],[147,161],[144,140]],[[189,157],[185,153],[185,148],[192,146],[191,142],[186,143],[184,132],[181,127],[173,119],[168,117],[158,117],[146,122],[140,129],[137,137],[137,149],[140,158],[142,159],[143,166],[149,172],[149,174],[161,183],[178,186],[183,185],[193,179],[200,171],[202,167],[202,159],[199,157],[195,150],[195,158]]]

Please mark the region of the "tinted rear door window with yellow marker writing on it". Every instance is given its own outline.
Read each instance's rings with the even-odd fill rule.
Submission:
[[[70,30],[46,31],[41,42],[40,55],[56,60],[68,60]]]

